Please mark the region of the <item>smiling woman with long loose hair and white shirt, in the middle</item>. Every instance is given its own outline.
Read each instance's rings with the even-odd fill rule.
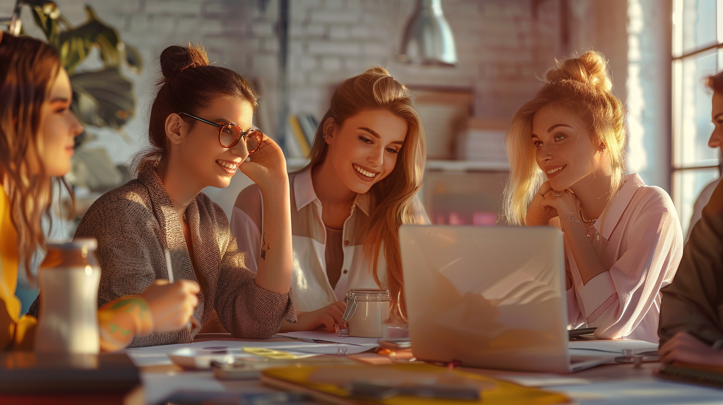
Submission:
[[[425,145],[411,93],[385,69],[367,69],[335,90],[320,122],[311,161],[289,175],[299,322],[282,330],[334,331],[348,290],[382,287],[390,290],[390,319],[404,323],[398,229],[429,222],[416,197]],[[266,212],[259,188],[251,186],[231,216],[252,270],[268,243]]]

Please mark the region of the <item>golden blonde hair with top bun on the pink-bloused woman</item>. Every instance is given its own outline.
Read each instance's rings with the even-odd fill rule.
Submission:
[[[550,105],[572,111],[588,127],[594,145],[602,145],[612,169],[608,199],[612,198],[625,175],[625,150],[628,137],[625,108],[612,94],[607,61],[603,54],[587,51],[577,58],[555,60],[545,74],[546,82],[534,98],[521,106],[505,136],[510,160],[510,178],[504,193],[504,215],[513,224],[524,224],[527,207],[545,176],[535,158],[531,141],[532,119],[537,111]]]

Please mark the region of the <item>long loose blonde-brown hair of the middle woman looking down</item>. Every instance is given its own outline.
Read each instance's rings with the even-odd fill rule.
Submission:
[[[382,282],[377,262],[383,244],[387,264],[385,281],[391,297],[390,319],[405,321],[399,226],[405,223],[422,223],[422,219],[415,216],[414,196],[422,187],[426,156],[424,127],[416,113],[409,90],[382,67],[372,67],[341,83],[331,97],[329,110],[320,121],[307,168],[318,166],[326,156],[324,123],[333,119],[335,124],[341,127],[346,119],[366,109],[388,110],[406,120],[408,126],[404,145],[399,151],[393,171],[369,189],[372,207],[369,212],[369,232],[364,240],[364,252],[372,258],[374,279],[379,286],[382,286]]]

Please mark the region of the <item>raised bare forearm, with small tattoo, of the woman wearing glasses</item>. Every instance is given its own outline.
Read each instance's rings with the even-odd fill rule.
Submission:
[[[261,251],[256,285],[286,294],[291,289],[291,203],[288,180],[260,187],[263,198]]]

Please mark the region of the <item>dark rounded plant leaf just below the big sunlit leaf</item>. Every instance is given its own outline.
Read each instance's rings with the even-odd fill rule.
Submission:
[[[119,129],[132,118],[135,95],[132,83],[118,68],[108,67],[99,72],[74,74],[73,111],[85,124]]]

